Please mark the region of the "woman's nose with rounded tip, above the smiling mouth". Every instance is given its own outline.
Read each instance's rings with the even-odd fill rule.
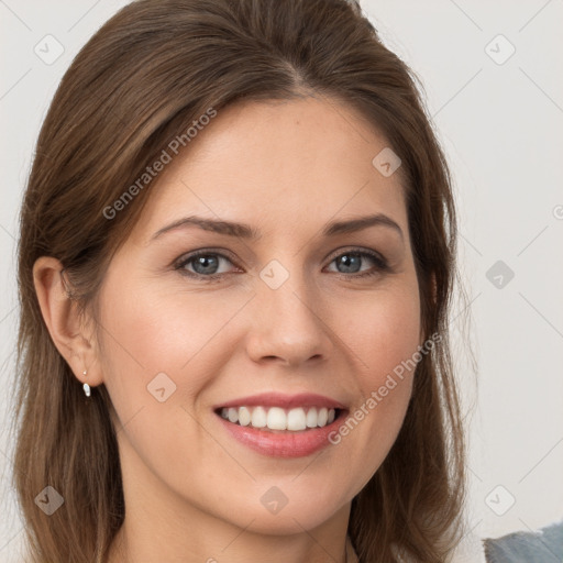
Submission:
[[[246,340],[247,353],[256,363],[299,367],[331,354],[333,340],[325,320],[327,306],[314,288],[296,277],[290,276],[277,289],[257,279]]]

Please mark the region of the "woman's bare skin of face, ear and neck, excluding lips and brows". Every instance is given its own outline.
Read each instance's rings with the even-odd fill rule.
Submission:
[[[372,165],[386,146],[336,101],[229,107],[167,165],[112,260],[100,292],[103,330],[77,317],[55,258],[35,264],[55,344],[92,394],[107,386],[115,409],[126,517],[111,563],[344,562],[351,501],[398,434],[412,373],[338,445],[307,457],[250,450],[212,407],[310,391],[353,412],[423,343],[399,174]],[[372,213],[388,216],[402,236],[382,225],[321,234],[330,221]],[[249,223],[261,238],[189,227],[151,241],[188,214]],[[201,249],[227,256],[218,282],[175,269]],[[341,256],[353,250],[380,253],[390,269],[363,256],[346,271]],[[273,260],[289,274],[278,289],[260,277]],[[202,272],[195,267],[184,271]],[[368,271],[375,275],[357,277]],[[163,372],[176,390],[159,402],[147,385]],[[273,486],[288,499],[277,515],[261,503]]]

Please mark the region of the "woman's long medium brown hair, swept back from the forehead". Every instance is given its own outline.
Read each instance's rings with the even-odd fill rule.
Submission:
[[[102,562],[124,518],[110,397],[101,385],[86,401],[55,347],[35,261],[58,258],[69,298],[95,312],[113,253],[156,180],[111,220],[103,210],[170,140],[209,108],[303,93],[355,109],[401,158],[421,322],[427,338],[441,336],[417,366],[395,444],[352,501],[349,533],[362,563],[441,562],[452,552],[465,490],[448,336],[456,221],[417,84],[345,0],[139,0],[80,51],[42,126],[21,210],[14,483],[31,561]],[[65,499],[49,517],[34,503],[47,485]]]

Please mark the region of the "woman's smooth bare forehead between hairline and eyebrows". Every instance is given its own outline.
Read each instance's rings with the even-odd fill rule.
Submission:
[[[173,155],[134,235],[146,240],[183,213],[267,231],[383,212],[406,227],[399,174],[385,177],[372,163],[386,147],[363,115],[333,99],[230,106]]]

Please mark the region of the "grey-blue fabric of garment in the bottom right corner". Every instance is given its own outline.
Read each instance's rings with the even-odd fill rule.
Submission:
[[[563,520],[538,532],[483,540],[487,563],[562,563]]]

